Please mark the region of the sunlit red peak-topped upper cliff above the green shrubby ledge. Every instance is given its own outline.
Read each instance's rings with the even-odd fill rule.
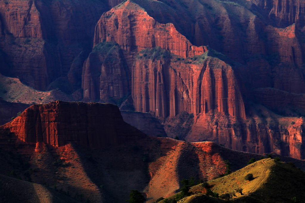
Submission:
[[[104,40],[116,41],[124,50],[132,52],[160,46],[182,57],[202,54],[206,50],[193,46],[172,23],[158,23],[129,0],[105,12],[97,23],[94,45]]]

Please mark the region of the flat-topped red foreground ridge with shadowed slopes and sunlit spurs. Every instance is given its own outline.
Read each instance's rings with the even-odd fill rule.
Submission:
[[[174,194],[184,178],[211,180],[224,173],[224,160],[237,170],[261,157],[212,142],[146,136],[112,104],[60,101],[30,106],[1,126],[0,146],[0,173],[21,179],[1,180],[26,186],[27,194],[37,193],[33,199],[48,195],[45,202],[123,202],[134,189],[152,202]]]

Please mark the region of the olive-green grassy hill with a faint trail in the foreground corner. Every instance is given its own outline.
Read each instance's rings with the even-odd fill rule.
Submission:
[[[246,180],[247,174],[253,174],[253,180]],[[201,202],[305,202],[305,172],[287,163],[262,159],[227,176],[191,187],[192,195],[178,203]],[[207,197],[211,190],[219,196],[231,195],[230,201]],[[241,192],[241,193],[240,193]],[[175,195],[174,195],[175,196]],[[174,197],[172,196],[172,197]],[[208,199],[209,198],[209,199]],[[162,201],[161,201],[162,202]]]

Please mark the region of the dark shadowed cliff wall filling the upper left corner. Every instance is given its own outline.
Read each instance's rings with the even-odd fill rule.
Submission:
[[[9,64],[0,72],[47,90],[80,52],[90,50],[96,21],[108,9],[100,1],[0,2],[0,48],[6,55],[1,63]]]

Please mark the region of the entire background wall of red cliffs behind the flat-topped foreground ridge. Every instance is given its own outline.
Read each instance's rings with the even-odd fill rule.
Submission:
[[[193,114],[188,140],[303,158],[303,114],[281,123],[303,109],[303,2],[133,0],[102,15],[118,3],[1,2],[1,71],[39,89],[69,80],[84,101],[128,98],[164,123]],[[287,108],[257,116],[253,101]]]

